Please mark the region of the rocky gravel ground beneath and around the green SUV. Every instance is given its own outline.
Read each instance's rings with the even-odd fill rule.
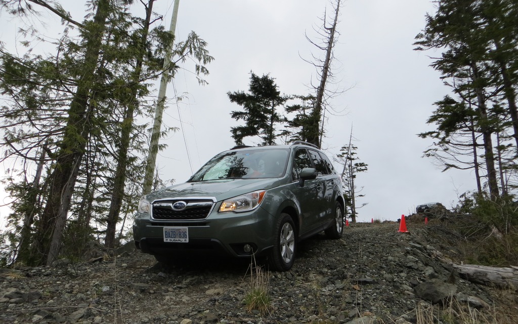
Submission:
[[[291,271],[268,274],[266,313],[243,303],[249,261],[207,256],[164,267],[129,249],[88,262],[0,270],[0,322],[415,323],[416,309],[444,307],[448,295],[490,315],[518,302],[516,291],[479,286],[452,271],[448,260],[462,259],[454,232],[441,224],[407,227],[408,234],[396,222],[356,223],[342,240],[317,235],[302,242]]]

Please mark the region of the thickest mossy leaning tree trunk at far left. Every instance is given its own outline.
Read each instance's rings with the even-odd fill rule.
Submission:
[[[92,127],[94,105],[89,106],[88,102],[109,7],[109,0],[99,0],[93,24],[88,31],[89,36],[85,36],[89,38],[82,66],[83,74],[78,79],[76,93],[68,109],[63,140],[59,145],[54,170],[49,177],[51,186],[48,201],[41,215],[38,232],[38,248],[41,253],[39,264],[52,264],[61,247],[73,189]]]

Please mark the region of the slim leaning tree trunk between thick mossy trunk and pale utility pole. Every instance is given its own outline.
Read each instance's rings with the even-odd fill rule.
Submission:
[[[121,145],[118,151],[117,168],[115,177],[113,179],[113,190],[110,202],[110,210],[108,213],[106,237],[104,244],[107,248],[113,248],[115,246],[115,234],[117,231],[117,223],[119,221],[119,215],[121,212],[122,200],[124,198],[124,188],[126,181],[126,166],[127,166],[127,151],[130,148],[131,142],[131,130],[133,128],[133,114],[137,106],[137,86],[142,71],[142,60],[146,54],[146,41],[148,39],[149,25],[151,21],[151,13],[153,10],[153,2],[155,0],[149,0],[148,7],[146,9],[146,22],[142,27],[142,37],[140,38],[139,57],[137,58],[137,64],[131,77],[131,96],[128,97],[126,102],[126,114],[121,125]]]

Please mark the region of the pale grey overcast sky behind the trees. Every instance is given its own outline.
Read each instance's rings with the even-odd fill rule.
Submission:
[[[82,20],[82,1],[61,3]],[[164,15],[166,29],[173,4],[174,0],[157,0],[154,5]],[[171,133],[162,142],[168,145],[157,162],[163,179],[183,182],[212,156],[234,146],[230,128],[238,123],[230,111],[241,107],[226,93],[248,91],[250,71],[275,78],[283,94],[310,93],[315,69],[302,58],[323,53],[305,34],[317,40],[313,28],[320,26],[326,7],[332,10],[328,0],[180,1],[177,39],[195,31],[207,41],[214,61],[207,66],[208,85],[198,86],[189,61],[174,85],[169,84],[169,98],[175,97],[175,90],[186,97],[178,104],[169,101],[164,115],[167,126],[181,126],[182,132]],[[476,188],[469,171],[441,173],[433,160],[422,158],[431,142],[416,134],[433,130],[426,120],[433,103],[449,91],[429,66],[433,60],[428,55],[434,53],[413,51],[427,12],[435,13],[431,1],[348,0],[341,8],[333,71],[336,86],[351,89],[330,102],[338,113],[328,115],[322,147],[335,157],[349,142],[352,128],[357,155],[368,164],[368,171],[356,178],[365,194],[357,205],[368,203],[358,210],[358,221],[396,220],[426,202],[451,207],[459,194]],[[0,26],[0,39],[14,43],[15,20],[2,13]]]

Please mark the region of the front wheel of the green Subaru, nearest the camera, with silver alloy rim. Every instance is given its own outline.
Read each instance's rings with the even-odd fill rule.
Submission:
[[[282,213],[274,231],[274,247],[268,255],[270,270],[288,271],[295,260],[297,247],[297,232],[293,219]]]

